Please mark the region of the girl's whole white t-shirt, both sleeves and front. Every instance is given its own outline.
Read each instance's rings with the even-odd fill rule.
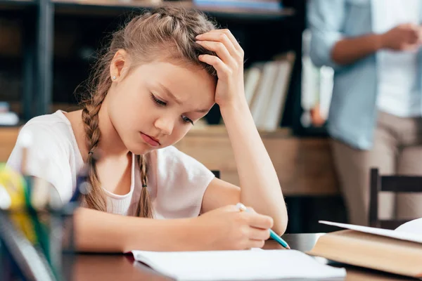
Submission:
[[[27,169],[32,176],[45,178],[68,202],[76,188],[77,175],[84,169],[75,134],[62,111],[31,119],[21,129],[7,164],[20,168],[23,133],[32,136]],[[169,146],[147,155],[148,191],[154,218],[186,218],[198,216],[203,195],[215,177],[203,164]],[[108,212],[134,216],[141,194],[141,171],[132,155],[131,188],[126,195],[104,190]]]

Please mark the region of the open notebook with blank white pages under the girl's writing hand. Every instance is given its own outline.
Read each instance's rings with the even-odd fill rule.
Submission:
[[[344,268],[319,263],[295,250],[132,251],[134,259],[176,280],[338,278]]]

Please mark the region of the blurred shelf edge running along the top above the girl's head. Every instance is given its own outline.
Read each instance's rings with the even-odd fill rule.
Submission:
[[[122,0],[52,0],[56,6],[57,13],[62,14],[84,14],[84,15],[107,15],[109,13],[119,13],[131,11],[136,8],[155,8],[162,5],[182,6],[184,8],[196,8],[212,15],[226,16],[230,18],[242,19],[280,19],[294,15],[293,8],[283,8],[281,11],[257,11],[251,9],[219,8],[196,6],[191,1],[122,1]]]

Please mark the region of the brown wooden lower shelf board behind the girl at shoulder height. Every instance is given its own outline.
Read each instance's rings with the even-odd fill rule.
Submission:
[[[18,136],[18,127],[0,127],[0,162],[6,162]],[[296,138],[290,130],[261,133],[286,196],[337,195],[328,139]],[[222,126],[194,129],[175,145],[208,169],[219,170],[224,181],[239,184],[229,137]]]

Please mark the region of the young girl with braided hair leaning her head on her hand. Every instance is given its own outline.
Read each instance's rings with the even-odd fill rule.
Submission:
[[[31,119],[8,159],[20,167],[30,133],[26,170],[63,202],[89,171],[90,192],[75,213],[79,250],[248,249],[262,247],[269,228],[284,233],[286,204],[245,100],[243,50],[229,30],[198,11],[145,12],[113,34],[93,78],[83,110]],[[172,146],[214,103],[241,188]],[[238,211],[238,202],[252,211]]]

